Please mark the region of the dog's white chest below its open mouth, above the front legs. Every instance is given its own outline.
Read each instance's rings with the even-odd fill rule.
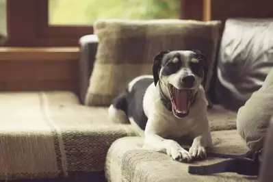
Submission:
[[[196,135],[207,129],[206,104],[202,99],[192,107],[190,114],[185,118],[177,118],[161,103],[155,94],[155,87],[150,86],[144,96],[144,113],[148,117],[146,132],[154,131],[157,134],[170,137]],[[200,103],[199,103],[200,102]]]

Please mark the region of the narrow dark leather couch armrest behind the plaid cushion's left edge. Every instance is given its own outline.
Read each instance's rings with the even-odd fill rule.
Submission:
[[[96,35],[86,35],[79,39],[79,100],[81,101],[81,104],[84,103],[86,97],[98,43],[99,40]]]

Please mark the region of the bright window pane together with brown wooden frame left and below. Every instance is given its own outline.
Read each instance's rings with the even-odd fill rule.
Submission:
[[[81,36],[92,34],[92,23],[97,18],[179,18],[182,16],[182,2],[186,2],[185,0],[5,1],[8,23],[8,42],[5,45],[11,47],[74,47],[78,45]]]

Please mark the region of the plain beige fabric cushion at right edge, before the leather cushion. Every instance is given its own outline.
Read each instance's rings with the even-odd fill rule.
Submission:
[[[273,68],[263,86],[252,94],[246,104],[239,108],[237,130],[252,150],[263,146],[265,133],[273,115]]]

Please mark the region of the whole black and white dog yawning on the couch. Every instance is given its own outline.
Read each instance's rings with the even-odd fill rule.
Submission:
[[[199,51],[161,51],[153,75],[133,79],[109,107],[113,122],[136,123],[144,130],[144,148],[167,153],[177,161],[206,157],[211,146],[207,99],[202,86],[205,56]],[[186,151],[174,140],[192,138]]]

